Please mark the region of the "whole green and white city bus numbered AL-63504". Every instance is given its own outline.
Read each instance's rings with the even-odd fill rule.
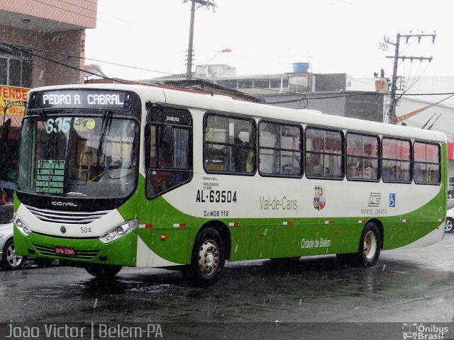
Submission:
[[[108,278],[179,268],[211,285],[225,261],[443,239],[443,133],[131,85],[33,89],[23,119],[16,253]]]

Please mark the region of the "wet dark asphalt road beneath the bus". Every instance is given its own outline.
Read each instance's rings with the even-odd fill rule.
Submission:
[[[0,282],[0,322],[453,322],[454,234],[384,251],[369,269],[334,256],[228,263],[209,288],[138,268],[104,283],[82,268],[28,266],[0,271]]]

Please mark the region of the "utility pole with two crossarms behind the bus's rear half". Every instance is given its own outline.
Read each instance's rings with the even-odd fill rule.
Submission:
[[[413,60],[419,60],[420,62],[422,62],[423,60],[428,60],[429,62],[432,61],[432,57],[405,57],[405,56],[399,57],[400,38],[405,38],[406,42],[408,43],[409,42],[409,38],[413,38],[413,37],[418,38],[418,43],[421,41],[421,38],[423,38],[423,37],[432,37],[432,43],[434,43],[436,34],[433,33],[433,34],[408,34],[408,35],[401,35],[400,33],[397,33],[396,42],[395,43],[389,41],[389,38],[384,38],[384,42],[386,44],[391,44],[391,45],[394,45],[394,47],[395,47],[395,49],[394,49],[394,57],[387,56],[387,58],[394,59],[394,67],[392,69],[392,81],[391,81],[391,94],[390,94],[391,98],[390,98],[390,102],[389,102],[389,117],[388,117],[388,123],[389,124],[396,123],[394,120],[396,119],[397,65],[398,65],[399,59],[400,60],[404,60],[404,61],[407,59],[407,60],[411,60],[411,62],[413,62]]]

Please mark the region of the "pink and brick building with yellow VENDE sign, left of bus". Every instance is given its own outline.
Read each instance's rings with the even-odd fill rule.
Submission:
[[[0,191],[11,198],[23,106],[31,87],[84,82],[85,30],[97,0],[0,1]]]

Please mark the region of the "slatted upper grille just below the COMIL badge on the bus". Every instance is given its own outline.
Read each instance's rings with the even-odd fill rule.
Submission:
[[[79,225],[85,225],[87,223],[98,220],[112,210],[101,210],[94,212],[74,212],[74,211],[62,211],[62,210],[46,210],[31,207],[26,205],[27,209],[31,211],[35,217],[46,222],[55,223],[74,223]]]

